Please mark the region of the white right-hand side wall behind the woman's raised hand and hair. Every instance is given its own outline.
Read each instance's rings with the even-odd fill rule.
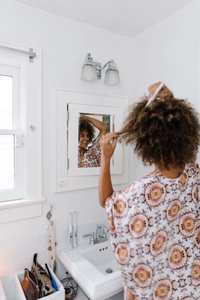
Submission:
[[[164,82],[177,98],[187,98],[196,108],[200,1],[133,38],[133,99],[154,82]],[[200,85],[200,83],[199,83]],[[134,157],[137,174],[147,170]]]

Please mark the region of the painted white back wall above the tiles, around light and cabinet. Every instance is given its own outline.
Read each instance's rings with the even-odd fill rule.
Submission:
[[[105,218],[97,188],[53,193],[53,87],[130,96],[131,67],[127,66],[131,66],[132,39],[12,0],[0,1],[0,28],[0,39],[40,47],[43,51],[43,196],[46,198],[42,217],[1,225],[0,240],[46,231],[49,203],[53,204],[56,228],[68,225],[70,211],[78,211],[78,223]],[[103,79],[92,83],[80,81],[88,52],[102,64],[114,58],[121,84],[106,86]]]

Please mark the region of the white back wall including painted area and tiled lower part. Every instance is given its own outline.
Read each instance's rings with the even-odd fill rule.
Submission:
[[[0,225],[0,277],[7,300],[13,300],[13,275],[31,267],[33,254],[38,253],[40,263],[50,262],[46,218],[50,203],[53,204],[57,248],[68,242],[70,211],[78,212],[79,242],[83,233],[95,230],[96,221],[107,222],[97,188],[53,193],[53,87],[131,97],[132,39],[12,0],[0,1],[0,28],[0,39],[39,47],[43,52],[43,197],[46,203],[41,217]],[[114,58],[121,84],[106,86],[103,79],[92,83],[80,81],[81,67],[88,52],[94,61],[102,64]],[[116,186],[115,189],[124,187]],[[58,265],[60,279],[64,278],[63,271]]]

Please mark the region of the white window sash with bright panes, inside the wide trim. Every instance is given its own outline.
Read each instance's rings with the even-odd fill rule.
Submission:
[[[20,68],[0,65],[0,201],[23,198]]]

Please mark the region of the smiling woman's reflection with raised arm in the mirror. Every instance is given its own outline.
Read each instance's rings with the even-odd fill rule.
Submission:
[[[95,127],[100,132],[99,135],[94,139]],[[99,141],[107,132],[108,126],[105,123],[86,115],[80,115],[78,152],[79,168],[100,167],[101,148],[99,145]],[[92,146],[88,147],[89,143],[92,143]]]

